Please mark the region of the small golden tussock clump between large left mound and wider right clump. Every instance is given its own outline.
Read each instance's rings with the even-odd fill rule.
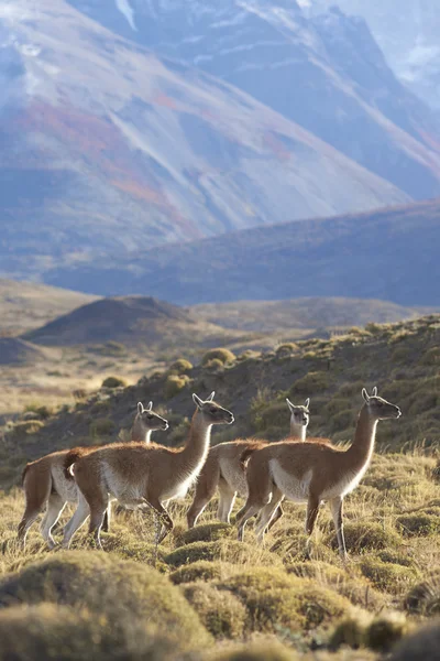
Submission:
[[[216,638],[243,636],[246,608],[232,593],[218,589],[207,583],[185,585],[183,593],[212,636]]]

